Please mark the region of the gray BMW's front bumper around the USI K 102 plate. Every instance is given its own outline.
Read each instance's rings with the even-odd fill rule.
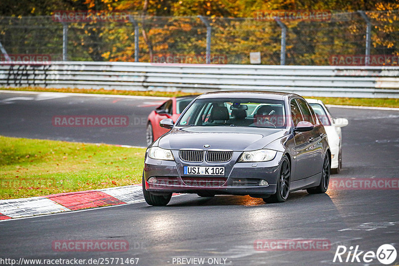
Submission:
[[[176,161],[156,160],[147,156],[143,176],[146,190],[159,194],[170,192],[211,193],[254,197],[276,193],[282,153],[277,152],[276,157],[267,162],[237,163],[240,154],[241,152],[234,152],[232,159],[226,163],[183,162],[176,156],[178,154],[174,154]],[[224,166],[225,176],[184,175],[184,166]],[[156,177],[163,181],[150,183],[148,182],[150,177]],[[268,185],[258,185],[258,181],[261,179],[266,180]]]

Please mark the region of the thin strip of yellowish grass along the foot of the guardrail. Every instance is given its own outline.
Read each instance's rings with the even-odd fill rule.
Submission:
[[[41,87],[23,87],[23,88],[4,88],[0,90],[11,91],[34,91],[34,92],[69,92],[69,93],[89,93],[89,94],[111,94],[111,95],[135,95],[135,96],[158,96],[158,97],[177,97],[194,95],[198,93],[186,92],[156,92],[156,91],[119,91],[119,90],[89,90],[89,89],[52,89]],[[325,104],[331,105],[351,105],[351,106],[372,106],[372,107],[394,107],[399,108],[399,99],[393,98],[329,98],[329,97],[307,97],[322,100]]]

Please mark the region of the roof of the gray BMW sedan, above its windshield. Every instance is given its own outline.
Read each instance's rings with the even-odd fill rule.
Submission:
[[[210,98],[263,98],[272,100],[283,100],[284,97],[299,96],[293,93],[285,92],[271,92],[271,91],[219,91],[219,92],[207,92],[198,99],[210,99]]]

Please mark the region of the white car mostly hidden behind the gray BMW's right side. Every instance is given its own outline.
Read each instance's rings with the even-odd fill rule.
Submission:
[[[313,108],[327,133],[328,144],[331,149],[331,172],[339,173],[342,168],[342,134],[341,128],[348,125],[346,118],[333,118],[322,101],[305,99]]]

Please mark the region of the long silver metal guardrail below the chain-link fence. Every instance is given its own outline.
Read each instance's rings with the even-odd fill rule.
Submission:
[[[138,91],[285,91],[302,96],[399,98],[399,67],[52,62],[0,65],[1,87]]]

